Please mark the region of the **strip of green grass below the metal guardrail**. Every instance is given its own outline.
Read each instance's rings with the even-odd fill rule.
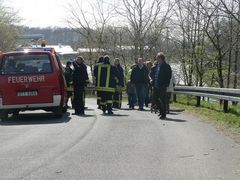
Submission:
[[[195,97],[178,96],[175,106],[181,106],[188,109],[204,119],[218,124],[224,124],[229,128],[240,130],[240,106],[234,106],[229,103],[229,112],[223,112],[223,106],[219,102],[209,102],[201,100],[200,107],[196,107]]]

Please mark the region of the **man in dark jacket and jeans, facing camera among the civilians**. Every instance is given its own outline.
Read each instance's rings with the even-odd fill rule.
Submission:
[[[142,58],[138,58],[138,65],[133,68],[130,79],[136,85],[139,110],[142,111],[149,83],[148,69]]]

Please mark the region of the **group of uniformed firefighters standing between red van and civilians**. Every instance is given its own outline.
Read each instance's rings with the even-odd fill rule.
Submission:
[[[71,66],[73,65],[73,69]],[[103,113],[113,114],[112,108],[121,108],[122,89],[124,87],[124,72],[119,59],[111,65],[109,56],[100,57],[94,66],[95,90],[97,92],[98,108]],[[67,97],[71,99],[76,115],[85,112],[85,87],[89,83],[87,66],[82,56],[74,62],[68,61],[65,67]]]

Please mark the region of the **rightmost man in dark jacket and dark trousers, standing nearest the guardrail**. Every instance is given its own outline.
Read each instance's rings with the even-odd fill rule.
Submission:
[[[172,76],[172,69],[165,61],[163,53],[156,56],[158,64],[151,69],[150,77],[153,85],[153,100],[160,109],[160,119],[166,119],[167,87]],[[157,101],[159,100],[159,103]]]

